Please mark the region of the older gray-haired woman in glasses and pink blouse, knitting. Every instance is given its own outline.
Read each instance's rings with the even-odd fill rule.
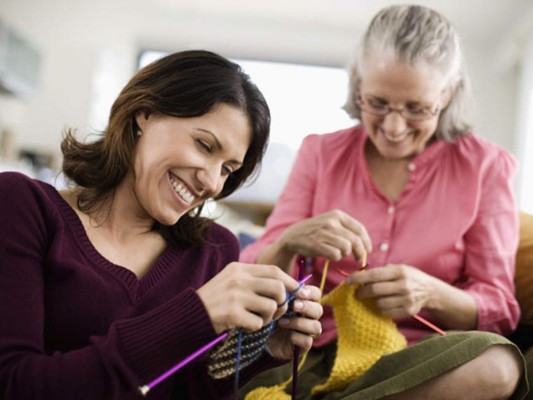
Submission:
[[[304,139],[266,231],[242,252],[241,261],[289,273],[295,260],[311,260],[326,295],[355,288],[356,300],[326,308],[298,399],[526,396],[523,356],[505,338],[520,316],[516,161],[465,122],[468,87],[458,36],[442,15],[383,9],[350,71],[345,109],[359,123]],[[371,308],[373,330],[362,314],[346,318],[356,302]],[[405,346],[384,347],[395,333],[376,330],[386,321]],[[356,339],[364,346],[354,350]],[[375,360],[346,379],[370,346]],[[244,392],[289,375],[269,371]]]

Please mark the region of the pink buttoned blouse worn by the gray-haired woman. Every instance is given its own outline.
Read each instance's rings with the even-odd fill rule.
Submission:
[[[340,209],[364,224],[372,239],[370,268],[408,264],[464,289],[475,300],[479,330],[509,334],[520,309],[514,297],[518,217],[511,154],[474,135],[436,141],[409,164],[409,182],[396,202],[374,185],[363,155],[361,126],[307,136],[266,231],[240,256],[254,262],[291,224]],[[324,259],[314,261],[319,285]],[[325,292],[343,281],[332,266],[358,267],[353,257],[332,263]],[[428,314],[420,315],[446,328]],[[396,321],[409,343],[434,333],[414,318]],[[322,318],[322,346],[336,338],[331,309]]]

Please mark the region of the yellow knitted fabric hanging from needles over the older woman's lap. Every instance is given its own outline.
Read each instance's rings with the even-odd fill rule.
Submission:
[[[333,307],[337,325],[337,355],[331,374],[312,393],[344,389],[381,356],[407,347],[405,337],[373,300],[359,300],[356,285],[341,284],[320,302]]]

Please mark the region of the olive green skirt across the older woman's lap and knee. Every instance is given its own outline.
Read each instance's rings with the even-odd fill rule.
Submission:
[[[492,345],[518,347],[506,338],[479,331],[449,332],[445,336],[430,335],[414,346],[381,357],[364,375],[341,391],[311,395],[311,389],[324,383],[335,361],[336,345],[312,349],[298,374],[297,400],[373,400],[381,399],[411,389],[432,378],[476,358]],[[533,352],[527,356],[533,358]],[[531,360],[530,360],[531,361]],[[530,363],[531,364],[531,363]],[[526,360],[524,359],[524,370]],[[531,371],[529,371],[531,373]],[[239,392],[239,398],[260,386],[273,386],[285,382],[292,374],[292,365],[265,371],[249,382]],[[290,393],[291,385],[286,388]],[[524,374],[519,387],[511,399],[533,398],[529,390],[527,375]],[[531,397],[530,397],[531,396]]]

